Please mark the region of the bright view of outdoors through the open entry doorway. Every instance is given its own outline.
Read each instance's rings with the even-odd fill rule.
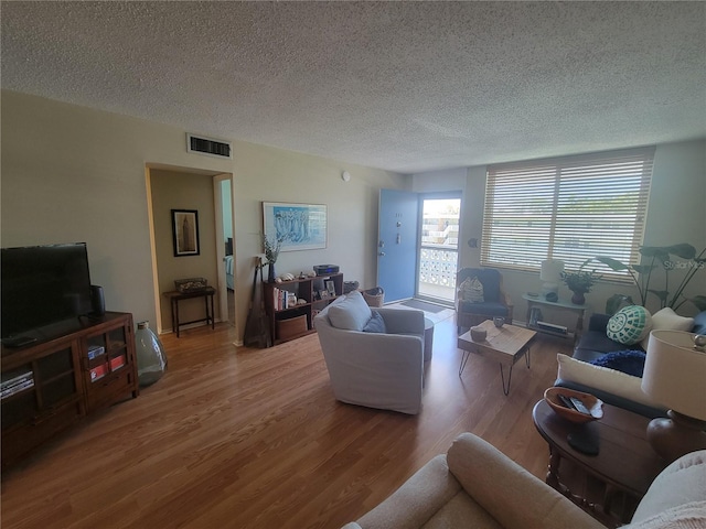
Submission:
[[[452,305],[459,255],[460,197],[422,201],[417,298]]]

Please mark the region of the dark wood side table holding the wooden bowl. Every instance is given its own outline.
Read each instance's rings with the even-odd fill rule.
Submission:
[[[602,419],[576,424],[541,400],[532,419],[549,444],[547,484],[608,527],[630,521],[650,484],[667,465],[648,443],[650,420],[622,408],[603,403]],[[599,454],[573,449],[569,433],[598,436]]]

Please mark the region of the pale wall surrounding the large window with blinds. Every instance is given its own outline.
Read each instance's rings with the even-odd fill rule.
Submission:
[[[485,193],[485,171],[483,166],[468,169],[466,183],[463,218],[460,234],[460,267],[478,267],[480,263],[480,247],[469,248],[468,239],[478,238],[480,241],[483,224],[483,204]],[[457,175],[450,173],[448,179],[442,173],[424,173],[414,175],[415,182],[434,175],[438,185],[450,185],[442,182],[450,179],[457,185]],[[688,242],[700,251],[706,247],[706,140],[687,141],[682,143],[659,144],[654,154],[654,170],[644,244],[648,246],[666,246],[677,242]],[[681,280],[680,271],[671,272],[670,290]],[[526,302],[522,294],[537,291],[541,287],[538,273],[503,271],[504,285],[515,303],[515,319],[524,321]],[[652,283],[654,288],[663,288],[663,276]],[[592,292],[587,294],[589,312],[603,312],[606,300],[620,292],[635,295],[637,291],[629,284],[599,282]],[[689,283],[687,295],[706,295],[706,271],[699,272]],[[561,285],[559,295],[570,295],[566,285]],[[650,298],[648,306],[654,306],[656,299]],[[691,315],[696,309],[691,303],[680,309],[681,314]],[[564,322],[566,324],[573,322]]]

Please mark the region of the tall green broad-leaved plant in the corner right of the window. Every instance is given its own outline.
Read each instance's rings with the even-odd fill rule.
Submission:
[[[696,248],[686,242],[682,242],[673,246],[643,246],[640,248],[640,253],[649,261],[646,264],[624,264],[617,259],[606,256],[598,256],[595,259],[616,272],[627,271],[640,293],[639,304],[643,306],[648,301],[648,294],[654,294],[660,300],[660,309],[668,306],[676,310],[686,301],[691,301],[699,311],[706,310],[706,295],[696,295],[694,298],[684,296],[684,289],[689,281],[699,270],[706,268],[706,248],[704,248],[700,253],[696,255]],[[680,262],[685,262],[685,266],[687,267],[686,274],[682,278],[682,281],[674,291],[674,294],[671,296],[670,271],[674,270],[678,263],[672,260],[670,256],[684,259],[684,261]],[[650,288],[650,283],[654,270],[660,267],[664,270],[664,289],[654,290]],[[633,304],[634,302],[630,295],[613,294],[606,303],[606,312],[608,314],[614,314],[623,303]]]

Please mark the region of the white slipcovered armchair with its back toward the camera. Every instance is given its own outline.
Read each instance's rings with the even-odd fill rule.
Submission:
[[[365,332],[374,314],[385,332]],[[375,316],[377,317],[377,316]],[[341,402],[415,414],[421,409],[424,312],[371,309],[360,292],[314,317],[331,386]]]

